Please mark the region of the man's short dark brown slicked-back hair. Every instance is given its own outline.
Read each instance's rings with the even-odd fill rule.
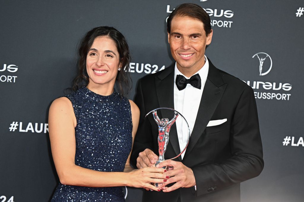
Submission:
[[[175,8],[167,19],[167,32],[171,32],[171,21],[174,16],[187,16],[198,19],[204,24],[206,36],[211,33],[211,20],[208,13],[199,5],[193,3],[185,3]]]

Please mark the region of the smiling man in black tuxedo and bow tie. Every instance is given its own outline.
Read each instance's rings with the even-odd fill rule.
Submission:
[[[168,18],[167,31],[176,63],[138,82],[140,123],[131,160],[138,168],[157,160],[157,125],[153,117],[144,117],[152,109],[179,111],[191,137],[184,155],[157,165],[173,167],[164,173],[170,178],[162,186],[168,187],[145,191],[143,201],[240,201],[240,182],[258,176],[264,167],[253,90],[206,58],[213,31],[201,7],[180,5]],[[163,110],[160,117],[170,119],[173,114]],[[187,144],[181,123],[177,120],[171,127],[165,159]]]

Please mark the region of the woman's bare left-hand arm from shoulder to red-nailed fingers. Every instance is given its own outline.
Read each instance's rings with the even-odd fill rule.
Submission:
[[[85,187],[149,187],[157,190],[156,187],[150,185],[150,182],[154,182],[154,180],[161,182],[162,180],[152,177],[162,178],[163,175],[151,172],[163,173],[164,169],[156,170],[157,168],[151,167],[147,170],[135,170],[131,173],[101,172],[75,165],[76,141],[74,128],[76,125],[76,118],[70,100],[66,97],[54,100],[49,111],[49,134],[52,155],[60,183]],[[130,161],[130,158],[128,160]],[[136,178],[140,180],[134,180]]]

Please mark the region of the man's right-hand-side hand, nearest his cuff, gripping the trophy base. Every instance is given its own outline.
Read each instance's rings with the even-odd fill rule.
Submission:
[[[167,182],[162,183],[163,192],[170,192],[176,190],[180,187],[193,187],[196,185],[195,177],[191,168],[188,168],[183,163],[173,160],[166,160],[159,163],[156,167],[161,168],[164,166],[171,166],[173,170],[168,170],[164,175],[169,176],[170,178]],[[164,187],[167,184],[174,183],[171,187]]]

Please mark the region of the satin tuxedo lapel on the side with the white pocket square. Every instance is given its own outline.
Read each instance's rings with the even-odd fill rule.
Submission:
[[[199,110],[197,112],[195,124],[183,160],[191,152],[195,146],[195,143],[199,140],[200,136],[205,130],[220,99],[222,98],[227,85],[223,82],[219,70],[213,66],[209,59],[208,61],[209,71],[207,80],[204,86],[201,102],[199,104]]]

